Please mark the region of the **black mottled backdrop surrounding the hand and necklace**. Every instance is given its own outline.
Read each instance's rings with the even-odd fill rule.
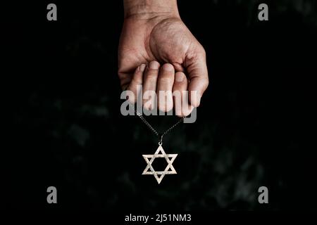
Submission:
[[[316,1],[178,1],[206,49],[211,84],[197,122],[164,140],[178,175],[141,176],[156,136],[120,114],[121,1],[4,7],[10,128],[6,208],[316,210]],[[58,21],[46,20],[55,3]],[[11,113],[12,112],[12,113]],[[153,118],[149,118],[150,120]],[[154,118],[163,131],[177,119]],[[46,203],[56,186],[58,204]],[[259,186],[269,204],[260,205]]]

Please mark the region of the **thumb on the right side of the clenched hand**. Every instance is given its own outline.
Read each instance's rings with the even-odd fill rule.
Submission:
[[[189,103],[194,107],[198,107],[201,96],[209,84],[206,53],[204,49],[201,47],[198,51],[188,54],[185,60],[185,66],[189,74]]]

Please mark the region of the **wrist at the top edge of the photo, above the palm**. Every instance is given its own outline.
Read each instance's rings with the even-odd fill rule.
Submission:
[[[158,16],[180,18],[176,0],[124,0],[125,19],[151,19]]]

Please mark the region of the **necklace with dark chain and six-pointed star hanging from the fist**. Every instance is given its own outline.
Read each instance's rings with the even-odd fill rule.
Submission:
[[[154,129],[151,126],[151,124],[149,124],[149,122],[147,122],[147,120],[145,120],[145,118],[141,115],[141,113],[137,112],[137,110],[135,110],[135,113],[142,120],[142,122],[144,122],[144,124],[146,124],[147,127],[149,127],[149,129],[151,129],[151,131],[153,131],[153,133],[159,137],[159,148],[156,149],[156,152],[154,153],[154,155],[142,155],[145,162],[147,162],[147,167],[145,167],[142,175],[154,175],[156,181],[160,184],[163,177],[166,174],[177,174],[177,172],[175,171],[175,169],[173,167],[173,162],[174,162],[175,158],[178,156],[178,154],[166,154],[165,153],[165,151],[162,147],[163,136],[166,135],[172,129],[174,129],[178,124],[180,124],[180,122],[182,122],[185,117],[182,117],[180,120],[178,120],[178,122],[176,122],[172,127],[168,128],[163,134],[159,134],[159,132],[156,131],[156,129]],[[166,162],[168,163],[168,165],[164,169],[164,171],[155,171],[154,168],[152,167],[152,162],[156,158],[165,158],[166,159]]]

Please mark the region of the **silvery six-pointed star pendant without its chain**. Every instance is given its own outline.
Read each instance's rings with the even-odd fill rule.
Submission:
[[[175,169],[172,165],[176,156],[178,156],[178,154],[166,154],[165,151],[163,150],[162,146],[159,146],[159,148],[157,148],[154,155],[143,155],[145,162],[147,162],[147,167],[144,169],[144,172],[142,173],[142,175],[152,175],[153,174],[156,181],[160,184],[163,177],[165,176],[165,174],[177,174],[177,172],[175,171]],[[149,158],[150,158],[150,160],[149,160]],[[166,159],[166,162],[168,162],[168,165],[164,171],[156,172],[153,169],[152,162],[155,160],[155,158],[165,158]]]

